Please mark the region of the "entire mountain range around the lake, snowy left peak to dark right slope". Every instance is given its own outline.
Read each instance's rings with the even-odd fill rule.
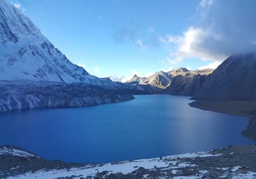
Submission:
[[[256,51],[233,54],[216,70],[178,68],[130,80],[98,78],[73,64],[23,12],[0,0],[0,110],[87,106],[137,94],[198,100],[256,100]]]

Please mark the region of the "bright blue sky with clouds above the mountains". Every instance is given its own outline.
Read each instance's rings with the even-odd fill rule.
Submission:
[[[212,68],[256,44],[254,0],[9,0],[98,77]]]

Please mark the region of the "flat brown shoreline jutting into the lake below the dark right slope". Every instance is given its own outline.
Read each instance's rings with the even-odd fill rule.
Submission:
[[[193,98],[191,98],[193,99]],[[215,111],[249,118],[249,125],[241,133],[243,136],[256,141],[256,102],[255,101],[213,101],[197,100],[189,106],[202,110]]]

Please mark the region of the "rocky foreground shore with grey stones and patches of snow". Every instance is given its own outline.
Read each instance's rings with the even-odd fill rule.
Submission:
[[[108,164],[48,161],[0,146],[0,178],[256,178],[256,145]]]

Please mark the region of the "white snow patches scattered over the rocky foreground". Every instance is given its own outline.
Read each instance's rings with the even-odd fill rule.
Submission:
[[[250,147],[250,146],[249,146]],[[249,148],[247,147],[247,148]],[[253,147],[253,146],[252,146]],[[229,148],[228,148],[229,149]],[[236,147],[233,149],[236,150]],[[148,175],[152,174],[152,172],[160,173],[159,178],[167,178],[170,176],[168,172],[172,173],[173,178],[202,178],[207,177],[209,173],[215,171],[215,174],[219,174],[219,178],[256,178],[256,172],[245,171],[242,169],[241,166],[234,166],[234,167],[222,167],[222,168],[212,168],[207,167],[205,168],[204,165],[201,168],[200,166],[196,165],[194,161],[211,161],[224,158],[229,158],[230,155],[234,155],[233,153],[230,154],[230,151],[226,151],[227,149],[220,149],[219,153],[213,153],[213,151],[206,151],[206,152],[197,152],[197,153],[186,153],[186,154],[179,154],[179,155],[170,155],[164,156],[162,158],[153,158],[153,159],[141,159],[141,160],[134,160],[134,161],[121,161],[121,162],[114,162],[114,163],[106,163],[106,164],[87,164],[82,165],[81,167],[71,167],[71,168],[61,168],[61,169],[40,169],[36,172],[27,172],[23,174],[12,174],[9,175],[7,178],[58,178],[58,177],[69,177],[69,178],[80,178],[81,176],[86,178],[87,176],[99,176],[100,178],[108,178],[110,174],[117,175],[121,172],[121,175],[124,176],[141,176],[141,178],[147,178]],[[238,150],[241,154],[241,150]],[[251,149],[249,150],[251,151]],[[223,153],[222,153],[223,152]],[[14,146],[2,146],[0,147],[0,155],[13,155],[19,157],[28,158],[28,161],[31,157],[37,157],[41,159],[39,156],[25,151],[23,149],[16,148]],[[232,158],[232,157],[231,157]],[[36,160],[39,162],[39,159]],[[225,163],[225,162],[224,162]],[[18,164],[17,164],[18,165]],[[31,165],[31,164],[29,164]],[[72,164],[74,166],[74,164]],[[20,171],[23,165],[14,166],[10,168],[8,172],[15,172]],[[142,168],[143,167],[143,168]],[[58,168],[58,167],[57,167]],[[194,174],[190,174],[187,171],[194,171]],[[139,175],[139,172],[142,171],[143,175]],[[197,171],[197,173],[195,173]],[[18,172],[17,172],[18,173]],[[148,173],[148,174],[146,174]],[[1,175],[8,174],[4,171],[0,171],[0,178]],[[128,174],[128,175],[125,175]],[[137,175],[138,174],[138,175]],[[169,176],[168,176],[169,175]],[[231,177],[229,177],[231,175]],[[210,176],[210,175],[209,175]],[[215,176],[215,175],[213,175]],[[127,177],[126,177],[127,178]],[[211,177],[212,178],[212,177]]]

